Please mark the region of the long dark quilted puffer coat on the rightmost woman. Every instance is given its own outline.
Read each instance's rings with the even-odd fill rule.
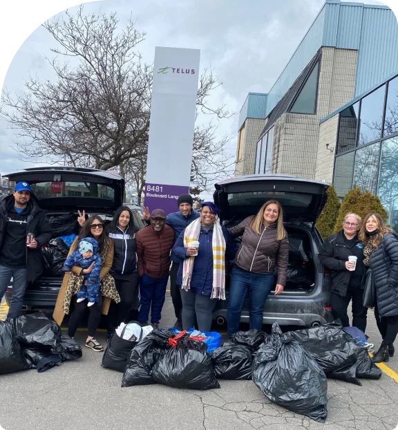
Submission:
[[[398,315],[398,236],[386,234],[370,254],[369,262],[375,279],[379,315]]]

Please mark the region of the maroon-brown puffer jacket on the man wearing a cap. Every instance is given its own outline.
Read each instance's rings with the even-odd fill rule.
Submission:
[[[137,242],[137,269],[142,277],[166,277],[170,270],[170,251],[174,244],[174,230],[164,225],[161,232],[155,232],[149,225],[135,234]]]

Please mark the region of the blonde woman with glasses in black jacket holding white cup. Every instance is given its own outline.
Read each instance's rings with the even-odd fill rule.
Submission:
[[[358,239],[360,228],[360,216],[345,215],[343,229],[323,242],[319,260],[325,268],[332,270],[330,304],[334,319],[339,318],[343,327],[350,326],[347,309],[352,301],[352,326],[365,333],[368,308],[363,306],[366,269],[363,265],[363,245]],[[349,256],[356,256],[357,263],[348,261]]]

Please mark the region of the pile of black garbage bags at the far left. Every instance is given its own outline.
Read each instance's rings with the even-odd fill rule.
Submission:
[[[42,312],[0,321],[0,374],[44,372],[82,357],[82,348]]]

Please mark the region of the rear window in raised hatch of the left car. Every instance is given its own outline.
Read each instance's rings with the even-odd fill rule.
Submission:
[[[82,182],[41,182],[31,185],[32,191],[39,200],[41,198],[104,198],[114,200],[115,191],[107,185]]]

